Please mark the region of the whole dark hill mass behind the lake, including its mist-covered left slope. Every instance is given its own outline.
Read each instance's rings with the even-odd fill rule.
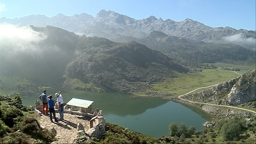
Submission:
[[[127,93],[175,77],[172,70],[188,72],[176,60],[135,41],[115,43],[53,26],[15,27],[21,29],[35,41],[1,39],[2,76],[21,77],[40,86]]]

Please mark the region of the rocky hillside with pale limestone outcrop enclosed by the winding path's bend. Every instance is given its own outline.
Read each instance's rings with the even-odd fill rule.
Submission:
[[[203,103],[240,105],[256,101],[256,71],[250,71],[228,82],[207,90],[184,96],[185,99]]]

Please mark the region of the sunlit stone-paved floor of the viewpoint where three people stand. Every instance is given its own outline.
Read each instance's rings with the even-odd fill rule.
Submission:
[[[56,113],[56,118],[59,118],[59,113]],[[68,113],[64,113],[64,121],[51,122],[50,117],[44,115],[38,117],[38,121],[42,128],[46,128],[48,130],[55,128],[57,131],[57,141],[54,141],[53,143],[73,143],[77,138],[77,124],[79,122],[83,124],[85,131],[90,129],[90,122],[88,118]],[[96,126],[96,123],[93,122],[93,125]]]

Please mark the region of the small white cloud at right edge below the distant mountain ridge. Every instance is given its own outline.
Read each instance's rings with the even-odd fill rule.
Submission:
[[[244,34],[236,34],[236,35],[229,35],[223,37],[223,39],[227,42],[240,42],[240,43],[249,43],[249,44],[255,44],[256,40],[255,38],[246,38]]]

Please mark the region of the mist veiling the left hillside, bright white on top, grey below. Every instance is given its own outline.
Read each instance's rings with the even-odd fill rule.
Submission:
[[[57,84],[74,57],[75,45],[63,40],[62,35],[49,32],[47,27],[33,28],[0,24],[0,74],[41,85]]]

